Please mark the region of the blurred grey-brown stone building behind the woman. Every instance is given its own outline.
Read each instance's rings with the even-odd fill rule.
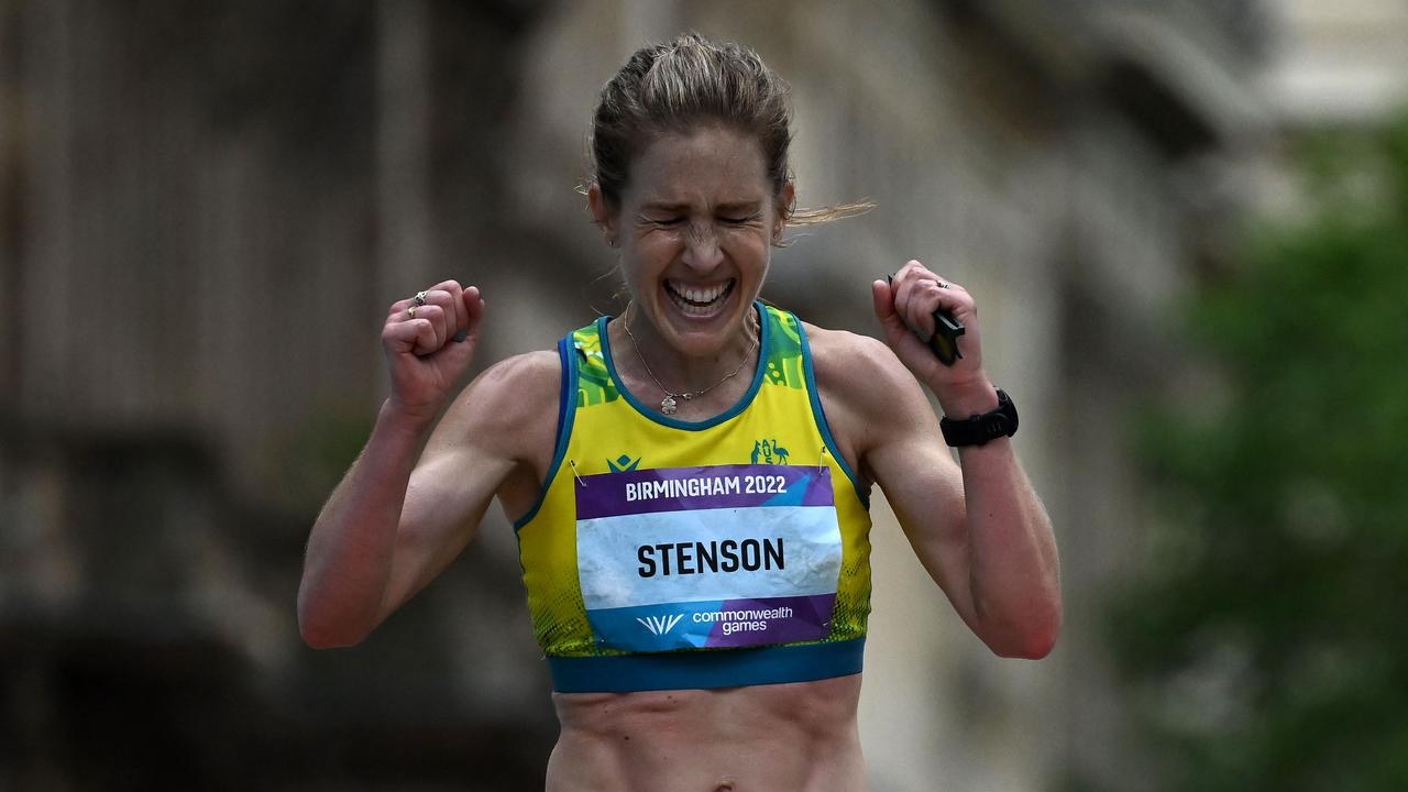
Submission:
[[[620,309],[587,121],[690,28],[791,82],[801,206],[879,206],[765,296],[872,334],[908,258],[969,286],[1062,547],[1059,648],[997,660],[876,499],[873,788],[1142,786],[1100,621],[1148,520],[1124,419],[1195,354],[1170,307],[1294,203],[1278,141],[1408,93],[1402,3],[0,1],[0,789],[541,786],[501,514],[355,650],[300,644],[301,548],[384,306],[480,285],[479,366]]]

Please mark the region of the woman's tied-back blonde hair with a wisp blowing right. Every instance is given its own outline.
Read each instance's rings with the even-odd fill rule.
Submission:
[[[591,120],[591,175],[612,206],[631,178],[631,162],[658,135],[724,124],[763,149],[767,182],[780,199],[793,179],[788,87],[756,52],[686,32],[638,49],[601,90]],[[814,225],[873,209],[869,200],[822,209],[779,206],[788,225]]]

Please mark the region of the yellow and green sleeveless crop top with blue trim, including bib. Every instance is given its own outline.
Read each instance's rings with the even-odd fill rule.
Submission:
[[[707,421],[665,416],[621,386],[607,317],[559,342],[558,445],[514,526],[558,692],[860,671],[867,492],[826,427],[801,323],[755,307],[758,372]]]

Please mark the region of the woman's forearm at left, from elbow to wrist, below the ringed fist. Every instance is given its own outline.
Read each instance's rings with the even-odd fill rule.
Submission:
[[[428,430],[383,404],[366,448],[318,514],[298,586],[298,629],[310,645],[355,644],[380,620],[407,486]]]

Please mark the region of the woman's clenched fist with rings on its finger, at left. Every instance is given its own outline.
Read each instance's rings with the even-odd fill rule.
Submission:
[[[390,406],[406,417],[429,423],[469,368],[479,342],[484,300],[479,287],[455,280],[415,297],[391,303],[382,327],[382,351],[391,373]]]

